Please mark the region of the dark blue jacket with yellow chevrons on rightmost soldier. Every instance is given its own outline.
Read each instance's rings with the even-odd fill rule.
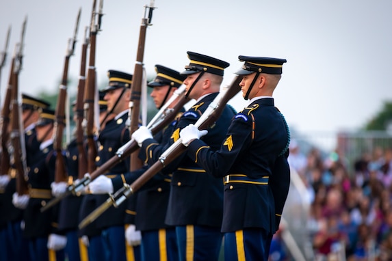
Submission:
[[[220,150],[198,139],[190,143],[188,155],[208,174],[231,175],[224,178],[222,232],[276,232],[290,182],[288,153],[283,154],[288,143],[289,130],[273,98],[254,100],[237,113]]]

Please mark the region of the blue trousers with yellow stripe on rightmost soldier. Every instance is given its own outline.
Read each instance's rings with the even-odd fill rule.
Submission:
[[[263,229],[244,229],[224,233],[224,260],[267,261],[270,254],[272,234]]]

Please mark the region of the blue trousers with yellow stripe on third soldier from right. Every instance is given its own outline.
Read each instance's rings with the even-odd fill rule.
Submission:
[[[142,231],[142,261],[179,260],[175,228]]]

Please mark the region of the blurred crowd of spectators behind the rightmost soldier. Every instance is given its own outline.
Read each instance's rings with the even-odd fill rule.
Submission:
[[[317,149],[303,154],[293,141],[289,163],[309,191],[316,260],[339,260],[342,252],[348,261],[392,260],[392,148],[374,148],[348,163],[338,151],[324,158]]]

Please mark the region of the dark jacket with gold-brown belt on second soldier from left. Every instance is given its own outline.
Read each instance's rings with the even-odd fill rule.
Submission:
[[[33,159],[32,159],[33,160]],[[55,176],[55,151],[53,144],[34,155],[29,166],[29,203],[24,210],[26,238],[48,236],[58,233],[58,207],[41,212],[40,208],[51,200],[51,183]]]

